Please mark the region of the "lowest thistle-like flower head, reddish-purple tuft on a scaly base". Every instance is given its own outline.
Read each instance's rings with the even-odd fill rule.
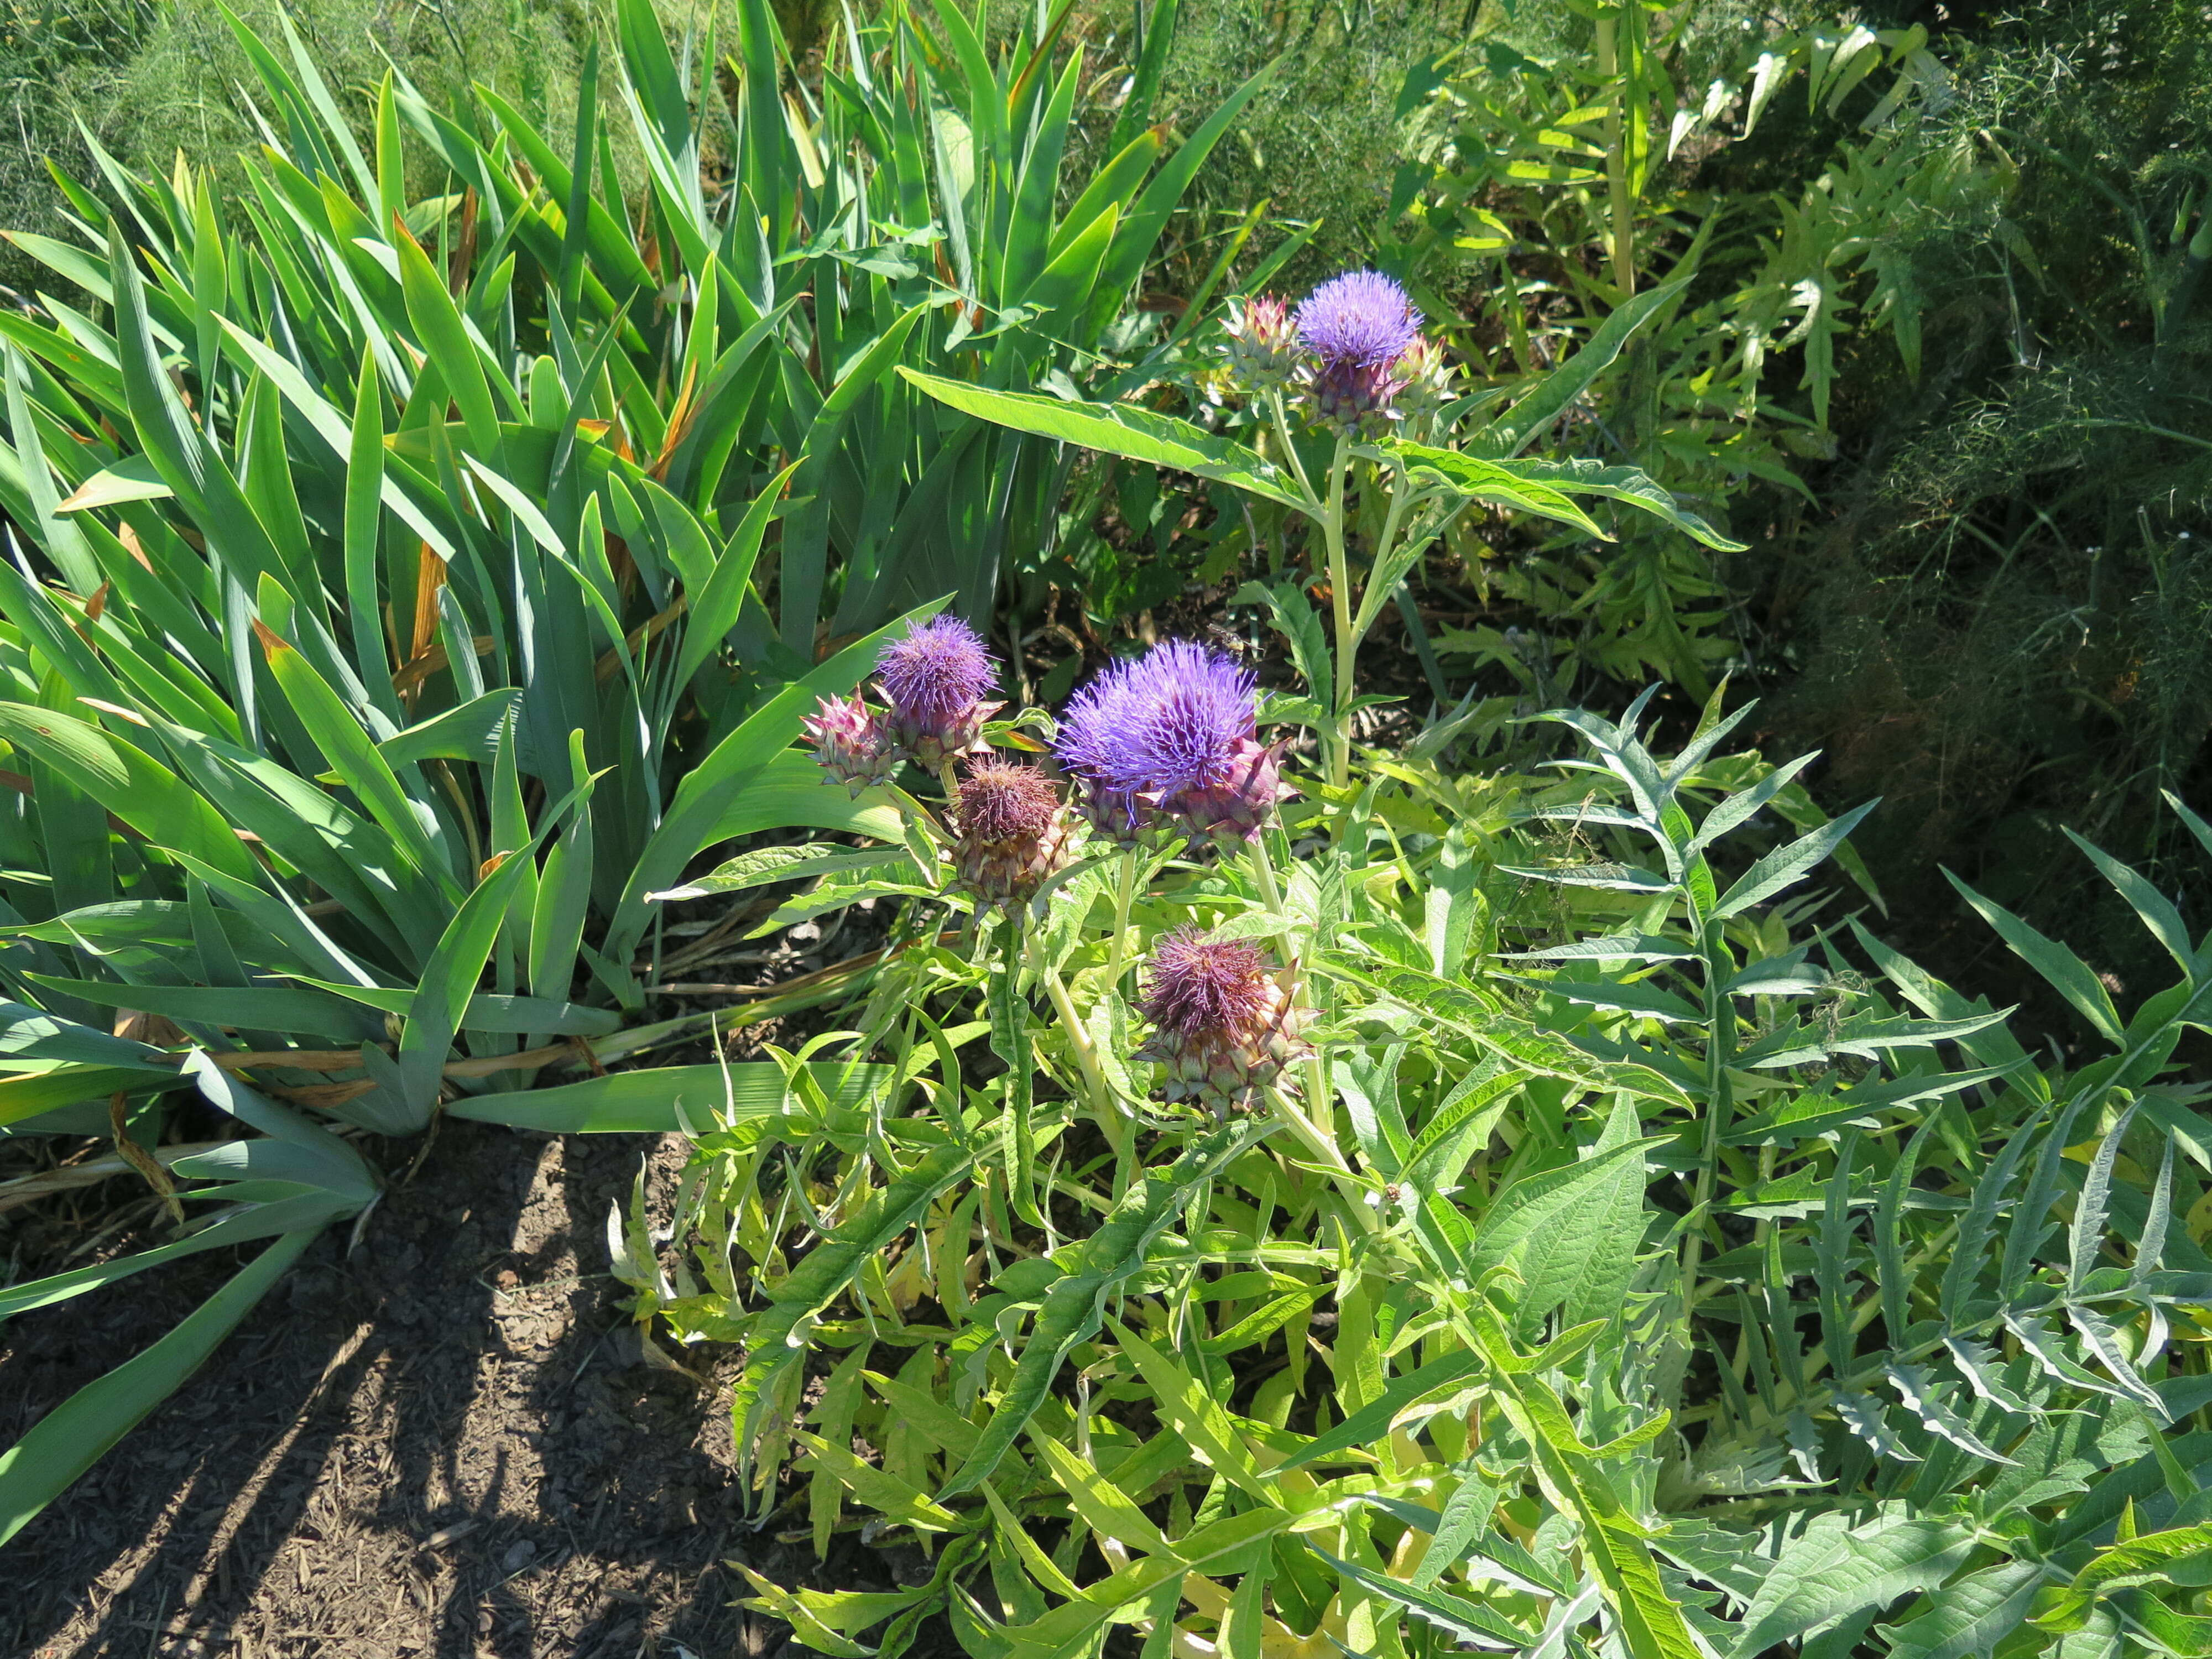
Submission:
[[[1301,1011],[1252,940],[1210,940],[1194,927],[1168,933],[1152,947],[1144,1013],[1152,1035],[1137,1057],[1166,1068],[1166,1097],[1217,1113],[1256,1104],[1312,1053]]]

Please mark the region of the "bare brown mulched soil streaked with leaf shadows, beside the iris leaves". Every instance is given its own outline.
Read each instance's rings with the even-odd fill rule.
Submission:
[[[732,1557],[889,1588],[874,1553],[816,1564],[737,1522],[728,1360],[708,1360],[710,1391],[644,1363],[606,1276],[606,1214],[641,1155],[666,1208],[677,1137],[447,1121],[405,1186],[416,1148],[385,1150],[394,1186],[358,1248],[325,1237],[13,1542],[0,1652],[721,1659],[785,1637],[730,1606]],[[0,1440],[230,1267],[13,1321]]]

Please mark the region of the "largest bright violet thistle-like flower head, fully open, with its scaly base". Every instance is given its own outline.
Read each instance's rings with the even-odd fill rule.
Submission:
[[[1170,639],[1119,661],[1068,703],[1060,761],[1099,834],[1133,843],[1155,814],[1192,836],[1250,838],[1283,796],[1254,741],[1259,688],[1230,657]]]

